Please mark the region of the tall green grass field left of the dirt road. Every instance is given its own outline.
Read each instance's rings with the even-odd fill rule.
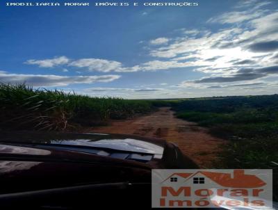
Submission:
[[[154,109],[151,101],[89,97],[61,90],[0,84],[0,129],[64,131],[132,118]]]

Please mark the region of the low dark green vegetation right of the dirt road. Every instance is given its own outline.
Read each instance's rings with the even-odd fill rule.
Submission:
[[[278,95],[186,99],[173,108],[230,140],[222,167],[278,167]]]

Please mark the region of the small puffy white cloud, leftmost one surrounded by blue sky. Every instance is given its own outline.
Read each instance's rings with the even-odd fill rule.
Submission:
[[[60,56],[52,59],[45,60],[27,60],[25,63],[28,65],[38,65],[39,67],[54,67],[56,65],[65,65],[70,62],[66,56]]]

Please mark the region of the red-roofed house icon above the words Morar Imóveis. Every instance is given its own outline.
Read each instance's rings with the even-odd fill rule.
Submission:
[[[162,183],[190,183],[205,184],[206,181],[214,182],[228,188],[258,188],[265,186],[265,182],[256,175],[245,175],[243,169],[236,169],[234,173],[210,172],[199,170],[195,173],[173,173]]]

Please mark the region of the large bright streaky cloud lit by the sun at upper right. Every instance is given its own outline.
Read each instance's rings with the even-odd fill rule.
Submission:
[[[151,56],[168,60],[150,61],[144,64],[146,66],[143,69],[197,67],[195,70],[206,74],[227,75],[236,71],[234,67],[240,60],[252,60],[252,63],[245,64],[250,67],[276,65],[274,47],[272,51],[252,51],[250,46],[260,42],[264,45],[267,41],[276,42],[277,20],[278,12],[270,12],[247,22],[247,28],[246,25],[235,25],[232,28],[220,29],[216,33],[204,34],[199,38],[175,38],[176,42],[150,51]]]

